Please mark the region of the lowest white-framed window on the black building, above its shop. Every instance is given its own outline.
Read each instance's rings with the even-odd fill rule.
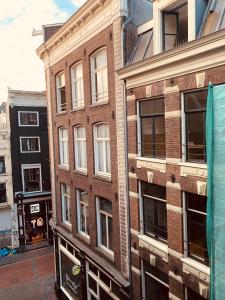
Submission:
[[[41,165],[21,165],[22,168],[22,182],[23,191],[25,193],[41,192],[42,191],[42,177]]]

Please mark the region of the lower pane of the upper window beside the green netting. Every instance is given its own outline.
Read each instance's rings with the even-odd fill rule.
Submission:
[[[187,160],[205,161],[205,112],[187,113],[186,126]]]

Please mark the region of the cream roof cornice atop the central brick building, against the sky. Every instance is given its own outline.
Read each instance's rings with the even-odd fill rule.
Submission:
[[[113,2],[113,0],[86,1],[46,43],[43,43],[37,49],[36,52],[38,56],[44,59],[45,55],[49,55],[54,48],[63,44],[63,42],[75,34],[77,30],[82,29],[86,20],[93,17],[96,10],[104,8],[108,2]],[[127,11],[121,9],[120,13],[121,15],[126,15]]]

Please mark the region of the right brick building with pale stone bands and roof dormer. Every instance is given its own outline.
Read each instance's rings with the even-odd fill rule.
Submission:
[[[209,82],[225,82],[223,11],[220,1],[153,1],[119,71],[133,299],[208,297],[205,113]]]

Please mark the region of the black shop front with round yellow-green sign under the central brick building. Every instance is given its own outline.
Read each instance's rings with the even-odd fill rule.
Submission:
[[[128,299],[122,287],[90,257],[55,235],[56,290],[60,299]]]

